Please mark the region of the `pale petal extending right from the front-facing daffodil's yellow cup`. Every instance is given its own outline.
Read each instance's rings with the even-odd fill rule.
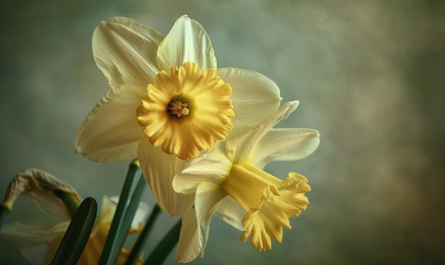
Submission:
[[[264,119],[277,111],[279,102],[279,88],[269,77],[238,68],[220,68],[217,75],[232,87],[233,130],[228,139],[233,139],[260,124]]]

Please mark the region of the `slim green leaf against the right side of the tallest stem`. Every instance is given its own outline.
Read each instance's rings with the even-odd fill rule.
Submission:
[[[136,188],[134,188],[134,192],[132,198],[130,198],[127,209],[125,209],[122,225],[121,227],[119,227],[119,231],[117,232],[117,247],[114,247],[112,253],[110,254],[110,260],[113,261],[113,263],[116,262],[117,256],[119,256],[120,250],[124,246],[125,239],[127,238],[129,228],[132,226],[134,215],[136,214],[136,210],[139,207],[139,202],[141,201],[142,193],[144,193],[144,188],[146,185],[147,184],[145,182],[144,175],[141,175],[138,183],[136,184]]]

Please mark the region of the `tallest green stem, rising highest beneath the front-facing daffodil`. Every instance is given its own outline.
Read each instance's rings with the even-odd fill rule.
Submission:
[[[134,177],[136,173],[139,171],[139,166],[137,166],[134,161],[130,163],[127,177],[125,178],[124,185],[122,186],[122,191],[119,196],[119,202],[117,202],[116,211],[114,212],[114,217],[112,220],[112,224],[109,227],[109,232],[107,236],[107,240],[104,244],[104,249],[102,250],[102,254],[100,255],[99,265],[110,265],[113,263],[111,258],[112,250],[116,245],[116,237],[117,232],[119,231],[119,227],[122,224],[122,219],[124,217],[124,210],[127,207],[127,202],[130,194],[130,190],[132,188]]]

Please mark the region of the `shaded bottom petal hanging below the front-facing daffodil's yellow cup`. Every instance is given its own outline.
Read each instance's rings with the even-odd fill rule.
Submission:
[[[179,216],[191,209],[194,196],[176,193],[171,185],[173,177],[183,169],[186,161],[155,148],[148,137],[139,144],[138,158],[151,193],[163,210],[171,216]]]

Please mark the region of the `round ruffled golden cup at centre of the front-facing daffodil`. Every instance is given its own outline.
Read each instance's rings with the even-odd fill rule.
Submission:
[[[215,70],[186,62],[156,75],[136,115],[154,147],[184,160],[195,158],[232,130],[231,94]]]

